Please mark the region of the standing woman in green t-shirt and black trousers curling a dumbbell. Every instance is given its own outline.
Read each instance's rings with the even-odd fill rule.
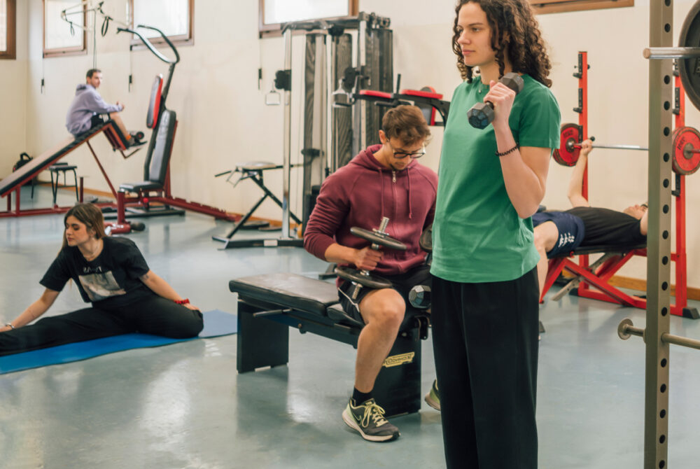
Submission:
[[[445,126],[433,223],[433,347],[448,468],[537,468],[538,253],[559,106],[527,0],[461,1],[463,80]],[[479,73],[475,75],[474,69]],[[516,95],[498,83],[519,73]],[[467,111],[493,103],[485,129]]]

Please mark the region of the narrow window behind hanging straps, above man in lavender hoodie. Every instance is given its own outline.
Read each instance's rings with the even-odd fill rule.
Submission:
[[[85,48],[85,7],[76,9],[76,0],[43,0],[44,57],[87,54]],[[67,22],[61,18],[66,10]],[[72,23],[72,24],[71,24]]]

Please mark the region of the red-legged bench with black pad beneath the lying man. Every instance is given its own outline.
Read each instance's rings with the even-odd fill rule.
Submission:
[[[570,259],[573,255],[601,254],[591,265],[580,265]],[[566,286],[563,286],[552,300],[559,300],[563,295],[577,288],[578,296],[593,298],[594,300],[607,301],[622,304],[640,309],[646,309],[647,300],[644,297],[629,295],[619,288],[610,284],[610,278],[615,275],[623,265],[629,261],[633,255],[646,257],[647,249],[645,244],[638,246],[586,246],[577,248],[568,256],[549,259],[549,268],[545,286],[542,288],[540,302],[544,299],[545,293],[552,287],[561,271],[566,269],[575,275]],[[596,288],[591,290],[590,287]],[[680,307],[671,304],[671,314],[684,316],[687,318],[700,318],[698,310],[694,307]]]

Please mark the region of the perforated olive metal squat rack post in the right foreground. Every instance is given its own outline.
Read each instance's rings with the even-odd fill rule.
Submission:
[[[700,1],[691,8],[683,31],[694,27],[693,20],[700,10]],[[644,468],[664,469],[668,466],[668,381],[669,344],[700,349],[700,341],[671,335],[671,144],[673,102],[673,67],[669,58],[691,59],[700,57],[700,51],[672,48],[673,2],[652,0],[649,10],[649,44],[645,57],[649,62],[649,230],[647,233],[647,314],[646,328],[634,328],[629,319],[619,324],[622,339],[630,335],[644,337],[645,341],[645,418]],[[685,43],[681,43],[685,45]],[[654,55],[659,48],[664,55]],[[679,64],[681,78],[683,67]],[[697,96],[691,80],[683,80],[689,97]],[[699,107],[699,102],[692,99]]]

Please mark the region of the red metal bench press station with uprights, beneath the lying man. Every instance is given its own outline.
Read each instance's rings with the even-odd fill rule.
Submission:
[[[588,62],[587,52],[578,53],[578,71],[574,76],[578,78],[578,102],[579,106],[574,109],[579,113],[579,125],[581,126],[581,137],[588,137]],[[673,112],[675,113],[675,127],[685,125],[685,92],[683,91],[680,76],[675,77],[676,102]],[[687,255],[685,249],[685,176],[675,174],[676,188],[675,195],[675,252],[671,253],[671,261],[675,262],[675,303],[671,304],[671,314],[687,318],[698,319],[700,314],[696,308],[687,306]],[[588,199],[588,168],[584,171],[582,194]],[[545,293],[552,287],[554,281],[563,270],[576,276],[572,281],[578,281],[577,295],[594,300],[601,300],[611,303],[623,304],[640,309],[646,309],[647,300],[636,295],[624,293],[619,288],[610,284],[610,278],[626,264],[634,255],[646,257],[645,248],[631,248],[629,251],[607,252],[603,257],[598,258],[594,265],[589,266],[589,253],[600,253],[594,249],[580,250],[579,262],[575,263],[570,257],[575,253],[570,253],[569,258],[553,258],[549,260],[545,286],[542,288],[540,302],[544,300]],[[592,290],[591,286],[596,288]]]

